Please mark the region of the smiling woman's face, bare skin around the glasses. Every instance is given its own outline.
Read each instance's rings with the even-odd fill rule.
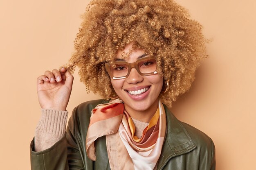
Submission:
[[[131,48],[132,43],[124,50],[119,50],[117,59],[121,59],[122,52],[128,53]],[[143,49],[132,50],[124,61],[136,62],[143,54],[145,54]],[[152,106],[158,107],[158,98],[163,86],[163,77],[159,74],[141,76],[135,68],[132,68],[127,78],[117,80],[111,78],[111,83],[119,98],[124,101],[127,111],[147,111]]]

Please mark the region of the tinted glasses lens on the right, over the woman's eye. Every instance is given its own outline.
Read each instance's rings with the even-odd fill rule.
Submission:
[[[145,59],[138,63],[139,71],[143,74],[152,73],[157,70],[157,62],[155,59]]]

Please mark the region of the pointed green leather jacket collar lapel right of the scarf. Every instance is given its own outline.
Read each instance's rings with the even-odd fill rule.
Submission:
[[[166,105],[164,105],[164,110],[166,113],[167,133],[161,156],[158,159],[157,170],[162,169],[172,157],[188,153],[196,148],[189,133]]]

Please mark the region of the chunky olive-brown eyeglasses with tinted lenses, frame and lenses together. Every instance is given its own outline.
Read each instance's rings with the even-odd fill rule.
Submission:
[[[157,74],[157,62],[153,56],[138,59],[135,63],[127,63],[126,61],[105,63],[105,68],[110,77],[115,80],[127,78],[132,68],[135,68],[141,76]]]

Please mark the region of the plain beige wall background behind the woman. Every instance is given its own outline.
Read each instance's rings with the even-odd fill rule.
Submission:
[[[171,109],[207,133],[217,170],[255,170],[256,1],[178,0],[213,39],[191,91]],[[67,62],[87,0],[0,1],[0,169],[29,170],[40,117],[36,78]],[[99,98],[74,74],[67,110]]]

